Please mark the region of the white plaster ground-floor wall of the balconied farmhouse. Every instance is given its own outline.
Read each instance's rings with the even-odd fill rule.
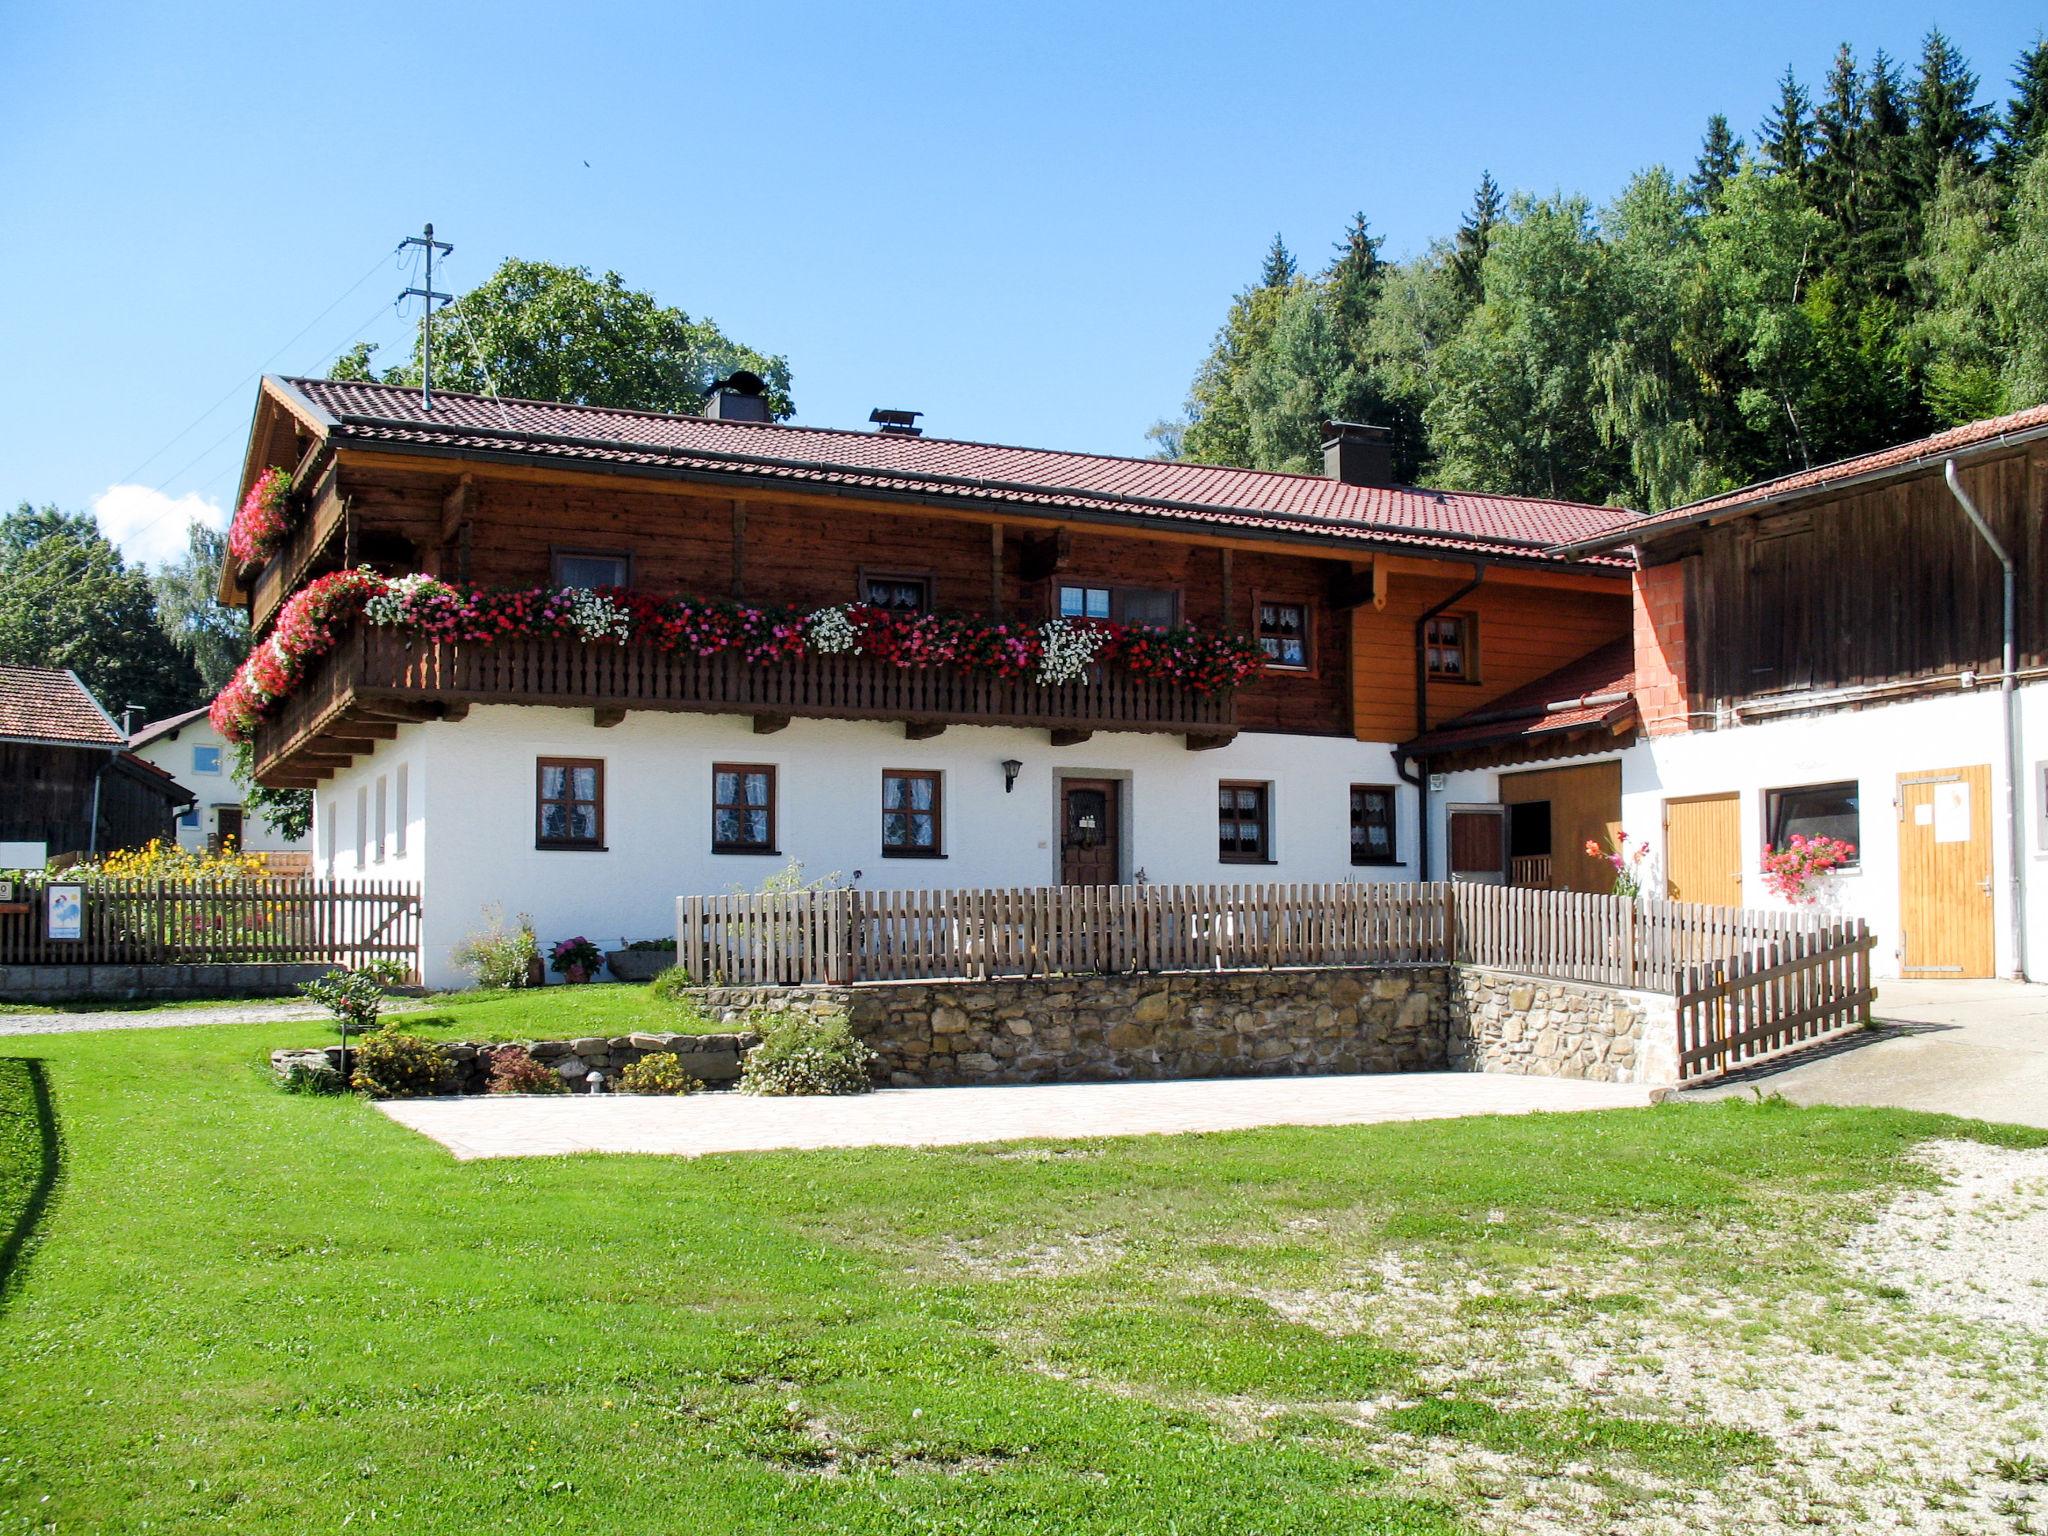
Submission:
[[[535,758],[604,760],[606,852],[537,850]],[[1024,764],[1004,793],[1001,760]],[[674,930],[678,895],[754,889],[791,858],[817,879],[838,872],[866,889],[1047,885],[1059,879],[1057,780],[1124,780],[1128,879],[1159,883],[1401,881],[1413,862],[1350,862],[1350,784],[1399,784],[1389,745],[1343,737],[1239,735],[1188,752],[1178,735],[1104,731],[1051,748],[1044,731],[952,727],[907,741],[899,725],[795,721],[754,735],[745,717],[633,713],[598,729],[584,709],[475,707],[461,723],[408,725],[319,788],[315,864],[336,829],[334,872],[354,868],[356,791],[410,768],[414,825],[403,860],[365,862],[367,879],[418,879],[426,891],[426,979],[465,985],[449,948],[483,907],[526,911],[543,948],[588,934],[600,948]],[[715,762],[776,766],[780,858],[711,852]],[[944,858],[883,858],[881,774],[944,774]],[[1217,856],[1217,780],[1272,782],[1272,864]],[[1397,852],[1413,860],[1415,797],[1397,795]]]

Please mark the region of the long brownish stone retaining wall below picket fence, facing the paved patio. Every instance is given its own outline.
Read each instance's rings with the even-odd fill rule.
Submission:
[[[1188,971],[852,987],[698,987],[735,1022],[754,1008],[842,1010],[877,1077],[1051,1083],[1432,1071],[1446,1061],[1444,967]]]

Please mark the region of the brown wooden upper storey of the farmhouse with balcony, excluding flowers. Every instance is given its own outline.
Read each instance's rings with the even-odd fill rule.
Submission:
[[[365,389],[350,387],[348,401],[358,410]],[[414,401],[406,391],[377,389],[375,403],[391,410],[393,422],[397,406],[385,397]],[[535,653],[545,643],[467,647],[469,657],[455,657],[420,651],[461,647],[399,655],[399,647],[379,647],[377,637],[358,637],[258,733],[266,782],[317,782],[397,721],[444,717],[469,702],[588,705],[604,717],[618,709],[750,713],[758,729],[774,729],[791,715],[829,715],[901,719],[915,733],[956,723],[1042,725],[1073,735],[1176,731],[1196,748],[1235,731],[1401,741],[1419,725],[1479,709],[1630,629],[1622,563],[1567,563],[1546,553],[1540,537],[1544,518],[1565,528],[1612,522],[1616,514],[1599,508],[1567,506],[1552,516],[1544,508],[1554,504],[1528,504],[1538,508],[1530,512],[1489,498],[1466,514],[1458,500],[1401,489],[1378,492],[1370,518],[1346,520],[1331,516],[1327,502],[1311,514],[1243,506],[1247,496],[1270,500],[1274,487],[1264,481],[1280,481],[1286,496],[1327,489],[1313,477],[1247,471],[1219,471],[1235,477],[1231,500],[1180,504],[1071,487],[1075,455],[1061,457],[1061,473],[1036,487],[928,473],[915,467],[918,455],[958,455],[975,444],[915,438],[887,444],[905,459],[901,475],[852,465],[846,477],[862,483],[836,483],[782,465],[817,475],[821,446],[840,457],[872,455],[877,434],[754,426],[745,446],[782,457],[756,451],[678,459],[662,451],[627,459],[590,449],[580,432],[496,430],[487,416],[477,426],[477,399],[455,399],[471,408],[461,428],[442,432],[434,430],[438,422],[422,428],[418,420],[381,426],[377,418],[330,410],[336,397],[324,397],[319,381],[268,379],[244,487],[266,467],[291,469],[295,522],[260,571],[223,575],[221,598],[246,604],[262,631],[291,592],[344,565],[489,588],[623,578],[643,592],[793,608],[885,600],[1026,623],[1063,610],[1169,621],[1264,635],[1278,655],[1235,696],[1176,698],[1159,684],[1118,686],[1112,678],[1069,688],[891,678],[901,670],[862,668],[860,657],[836,657],[831,668],[823,657],[795,664],[786,670],[801,676],[782,680],[741,676],[737,662],[616,653],[578,657],[565,672],[565,664]],[[539,410],[520,406],[522,418]],[[696,424],[627,420],[645,420],[649,432]],[[991,453],[1012,455],[1014,463],[1026,451]],[[1098,473],[1098,465],[1130,465],[1133,475],[1161,469],[1147,461],[1085,461],[1081,469]],[[1247,479],[1249,492],[1239,483]],[[1442,518],[1440,526],[1430,526],[1432,516]],[[1534,526],[1509,524],[1513,530],[1501,535],[1501,518],[1530,518]],[[1419,651],[1417,625],[1446,598],[1454,602],[1427,625]],[[483,659],[475,655],[481,649],[502,655]],[[1427,668],[1425,721],[1417,717],[1419,655]]]

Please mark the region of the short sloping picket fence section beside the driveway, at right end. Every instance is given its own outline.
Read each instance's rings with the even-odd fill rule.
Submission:
[[[1874,946],[1870,928],[1855,920],[1688,965],[1677,985],[1679,1081],[1718,1077],[1870,1024]]]

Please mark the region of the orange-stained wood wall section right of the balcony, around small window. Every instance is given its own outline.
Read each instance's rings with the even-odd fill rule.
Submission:
[[[1464,586],[1456,575],[1393,575],[1384,608],[1362,606],[1352,616],[1354,729],[1362,741],[1405,741],[1415,735],[1415,621]],[[1577,662],[1587,651],[1630,633],[1626,578],[1614,592],[1577,592],[1487,580],[1450,608],[1479,621],[1477,682],[1430,682],[1430,725],[1491,705],[1526,682]]]

